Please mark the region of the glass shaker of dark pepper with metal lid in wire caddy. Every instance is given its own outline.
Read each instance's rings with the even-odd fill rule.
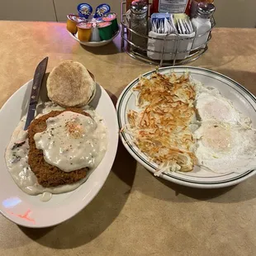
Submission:
[[[141,36],[130,32],[130,41],[142,49],[147,48],[148,40],[143,36],[148,35],[148,4],[144,0],[136,0],[130,4],[130,29]],[[132,50],[140,51],[139,48],[131,45]]]

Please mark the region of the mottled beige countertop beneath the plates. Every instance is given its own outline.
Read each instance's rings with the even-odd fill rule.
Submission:
[[[64,24],[0,21],[0,107],[49,56],[48,71],[73,59],[95,74],[116,101],[154,67],[121,53],[120,39],[83,48]],[[256,30],[215,29],[192,65],[213,69],[256,94]],[[119,146],[107,182],[77,216],[30,230],[0,216],[0,255],[255,255],[256,177],[235,187],[200,190],[154,178]]]

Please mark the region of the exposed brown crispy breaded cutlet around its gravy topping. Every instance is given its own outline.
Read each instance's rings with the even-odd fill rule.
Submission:
[[[73,111],[84,116],[90,116],[79,108],[66,108],[64,111]],[[59,116],[64,111],[51,111],[50,113],[40,116],[32,121],[28,128],[28,138],[30,150],[28,154],[28,164],[31,171],[36,174],[38,183],[43,187],[57,187],[59,185],[66,185],[76,183],[82,178],[86,177],[88,168],[82,168],[70,173],[65,173],[61,169],[45,162],[43,150],[36,149],[36,142],[34,135],[46,129],[46,121],[50,117]]]

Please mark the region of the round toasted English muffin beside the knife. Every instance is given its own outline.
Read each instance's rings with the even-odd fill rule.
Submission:
[[[79,62],[65,60],[47,79],[48,97],[61,107],[83,107],[92,99],[96,83]]]

